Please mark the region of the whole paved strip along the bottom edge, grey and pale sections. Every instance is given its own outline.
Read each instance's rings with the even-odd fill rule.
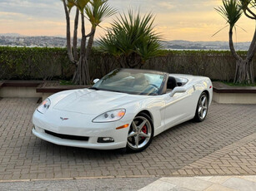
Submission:
[[[255,191],[253,176],[105,177],[1,180],[4,191]]]

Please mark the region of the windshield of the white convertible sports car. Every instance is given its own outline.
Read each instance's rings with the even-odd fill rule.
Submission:
[[[92,89],[156,96],[163,89],[164,75],[158,71],[117,69],[104,76]]]

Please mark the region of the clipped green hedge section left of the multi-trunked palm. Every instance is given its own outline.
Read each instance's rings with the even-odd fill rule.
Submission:
[[[68,76],[65,48],[0,47],[0,79],[51,80]]]

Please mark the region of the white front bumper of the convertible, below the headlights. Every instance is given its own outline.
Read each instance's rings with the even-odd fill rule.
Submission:
[[[68,120],[61,120],[61,117]],[[118,120],[110,123],[93,123],[94,115],[83,115],[60,110],[48,110],[45,114],[37,110],[33,114],[33,135],[53,144],[88,149],[120,149],[126,147],[128,129],[116,130],[118,126],[129,124],[131,120]],[[70,140],[50,135],[47,131],[59,135],[85,136],[88,140]],[[112,143],[98,143],[98,137],[111,137]]]

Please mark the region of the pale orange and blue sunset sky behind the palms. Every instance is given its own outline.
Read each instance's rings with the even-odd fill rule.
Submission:
[[[228,41],[228,28],[212,37],[213,33],[226,25],[214,7],[221,0],[109,0],[119,12],[131,7],[142,13],[153,12],[156,16],[155,29],[163,40]],[[73,17],[74,10],[72,12]],[[118,14],[116,15],[118,16]],[[113,16],[103,22],[109,27]],[[1,0],[0,33],[19,33],[26,36],[65,36],[66,22],[63,4],[60,0]],[[255,22],[243,16],[236,42],[248,42],[253,37]],[[87,29],[90,28],[87,22]],[[104,35],[98,28],[97,37]]]

